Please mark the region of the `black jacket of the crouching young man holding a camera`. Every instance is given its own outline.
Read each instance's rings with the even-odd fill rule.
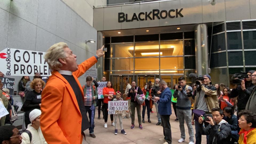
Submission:
[[[219,129],[219,130],[218,130]],[[221,126],[215,124],[214,126],[208,125],[203,127],[200,124],[200,131],[202,135],[209,135],[210,143],[213,144],[230,144],[231,129],[228,123],[222,123]]]

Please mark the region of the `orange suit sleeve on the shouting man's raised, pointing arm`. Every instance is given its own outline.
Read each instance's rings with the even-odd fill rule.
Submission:
[[[78,70],[73,72],[73,74],[79,78],[83,75],[88,69],[90,69],[95,63],[97,63],[97,59],[92,56],[85,61],[83,61],[80,65],[78,65]]]

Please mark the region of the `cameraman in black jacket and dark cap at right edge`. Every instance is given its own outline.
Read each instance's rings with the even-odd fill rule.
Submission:
[[[246,73],[248,75],[248,78],[246,78],[246,81],[242,80],[241,85],[239,86],[235,85],[234,89],[231,90],[230,98],[235,98],[238,96],[237,113],[245,109],[248,99],[250,97],[250,94],[255,87],[255,85],[253,85],[252,83],[252,77],[251,77],[251,75],[254,72],[255,72],[254,70],[248,71]]]

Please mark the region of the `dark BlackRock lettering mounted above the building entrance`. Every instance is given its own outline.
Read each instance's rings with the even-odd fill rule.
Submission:
[[[150,12],[141,12],[138,15],[136,13],[133,13],[133,17],[131,19],[128,19],[128,14],[125,13],[118,13],[118,22],[132,22],[132,21],[146,21],[148,19],[152,20],[152,19],[165,19],[167,17],[169,18],[177,18],[178,16],[183,17],[183,15],[181,14],[181,11],[183,10],[183,8],[181,8],[180,10],[176,9],[171,9],[169,11],[167,10],[158,10],[158,9],[153,9]],[[150,16],[150,14],[152,14],[152,17]]]

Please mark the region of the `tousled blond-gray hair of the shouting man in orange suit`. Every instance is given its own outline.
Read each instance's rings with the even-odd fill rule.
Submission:
[[[59,62],[58,59],[66,58],[65,47],[68,47],[65,42],[59,42],[55,43],[47,50],[44,58],[51,70],[59,70],[62,67],[62,63]]]

